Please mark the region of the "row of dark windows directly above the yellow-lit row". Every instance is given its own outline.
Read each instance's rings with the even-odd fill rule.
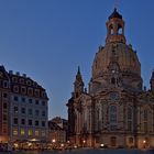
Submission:
[[[18,118],[14,118],[14,119],[13,119],[13,123],[14,123],[14,124],[19,124],[19,119],[18,119]],[[26,120],[25,120],[25,119],[21,119],[20,123],[21,123],[22,125],[25,125],[25,124],[26,124]],[[35,125],[35,127],[46,127],[45,121],[38,121],[38,120],[33,121],[33,120],[31,120],[31,119],[28,120],[28,124],[29,124],[30,127],[32,127],[32,125]]]

